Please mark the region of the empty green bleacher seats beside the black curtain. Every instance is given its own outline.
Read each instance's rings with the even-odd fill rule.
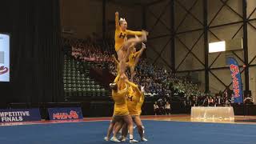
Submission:
[[[90,78],[90,70],[68,55],[64,55],[63,84],[66,99],[108,96],[108,90]]]

